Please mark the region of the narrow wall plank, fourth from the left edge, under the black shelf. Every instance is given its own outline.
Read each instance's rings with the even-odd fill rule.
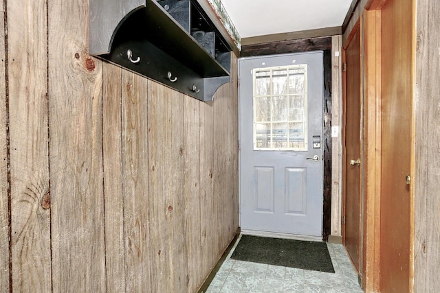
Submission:
[[[124,292],[124,180],[122,180],[122,69],[102,63],[102,151],[107,292]],[[147,276],[149,277],[149,276]]]

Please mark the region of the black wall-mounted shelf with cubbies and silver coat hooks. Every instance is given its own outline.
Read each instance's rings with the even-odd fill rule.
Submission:
[[[91,0],[90,54],[211,101],[231,47],[197,0]]]

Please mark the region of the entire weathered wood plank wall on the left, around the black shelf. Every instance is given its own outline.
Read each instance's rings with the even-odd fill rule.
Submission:
[[[0,8],[0,292],[195,292],[239,225],[237,58],[199,102],[89,56],[88,0]]]

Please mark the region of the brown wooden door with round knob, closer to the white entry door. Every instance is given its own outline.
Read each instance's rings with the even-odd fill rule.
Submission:
[[[356,25],[344,45],[344,244],[360,272],[361,248],[361,35]]]

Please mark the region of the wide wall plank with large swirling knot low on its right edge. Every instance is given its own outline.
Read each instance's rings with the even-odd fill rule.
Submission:
[[[12,289],[51,290],[46,1],[8,1]]]

